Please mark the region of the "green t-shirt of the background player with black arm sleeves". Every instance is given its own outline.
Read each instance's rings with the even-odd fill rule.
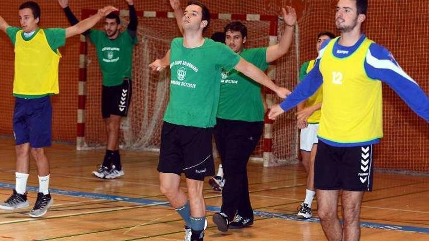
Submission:
[[[125,77],[131,78],[137,37],[131,37],[127,30],[119,33],[117,38],[110,39],[104,31],[91,30],[89,38],[97,48],[104,86],[117,86],[122,84]]]

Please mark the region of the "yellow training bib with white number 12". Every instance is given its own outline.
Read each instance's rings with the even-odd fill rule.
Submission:
[[[383,137],[381,81],[364,69],[371,40],[365,38],[351,56],[332,54],[331,40],[320,59],[323,109],[317,135],[337,143],[367,142]]]

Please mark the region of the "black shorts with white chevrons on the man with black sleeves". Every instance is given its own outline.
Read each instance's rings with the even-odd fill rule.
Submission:
[[[132,83],[130,78],[124,78],[121,85],[104,86],[101,93],[101,114],[103,119],[111,114],[127,116],[131,104]]]

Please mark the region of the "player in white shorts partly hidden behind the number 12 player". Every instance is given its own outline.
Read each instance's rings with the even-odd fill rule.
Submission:
[[[331,32],[321,32],[317,35],[316,50],[325,40],[335,38]],[[301,65],[299,71],[299,81],[301,81],[313,66],[314,60],[307,61]],[[314,189],[314,159],[317,150],[317,130],[319,129],[320,109],[322,108],[322,88],[306,101],[297,105],[297,126],[301,129],[300,146],[302,165],[307,171],[307,188],[304,202],[298,207],[298,219],[310,219],[312,217],[312,201],[315,195]]]

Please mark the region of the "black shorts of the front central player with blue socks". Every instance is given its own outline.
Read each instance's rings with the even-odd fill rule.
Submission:
[[[213,128],[198,128],[163,123],[157,170],[185,173],[186,178],[203,181],[215,175],[212,150]]]

